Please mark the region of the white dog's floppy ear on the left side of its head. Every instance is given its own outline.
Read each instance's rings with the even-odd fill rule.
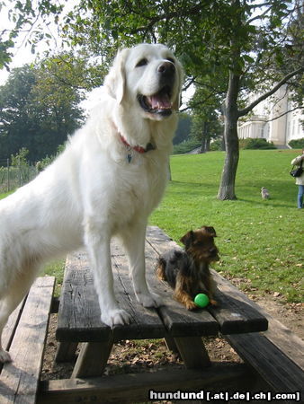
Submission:
[[[108,75],[104,79],[103,85],[113,98],[121,103],[126,84],[125,61],[130,52],[129,48],[119,50]]]

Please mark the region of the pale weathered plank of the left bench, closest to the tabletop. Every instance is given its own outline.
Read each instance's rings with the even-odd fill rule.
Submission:
[[[54,277],[39,277],[31,286],[10,347],[13,362],[1,373],[1,404],[35,402],[54,285]]]

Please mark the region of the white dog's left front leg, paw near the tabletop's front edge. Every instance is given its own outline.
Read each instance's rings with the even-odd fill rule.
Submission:
[[[111,237],[108,233],[86,223],[85,244],[94,270],[94,286],[102,312],[102,321],[110,327],[130,323],[128,312],[120,309],[114,294],[111,265]]]

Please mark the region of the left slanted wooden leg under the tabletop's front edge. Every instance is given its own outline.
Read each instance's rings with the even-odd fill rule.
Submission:
[[[112,338],[105,342],[83,343],[71,378],[101,376],[111,354],[112,346]]]

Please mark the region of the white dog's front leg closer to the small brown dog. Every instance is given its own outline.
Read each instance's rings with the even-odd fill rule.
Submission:
[[[134,293],[144,307],[159,307],[163,304],[161,297],[148,290],[145,263],[146,224],[137,224],[122,235],[128,253],[130,277]]]

